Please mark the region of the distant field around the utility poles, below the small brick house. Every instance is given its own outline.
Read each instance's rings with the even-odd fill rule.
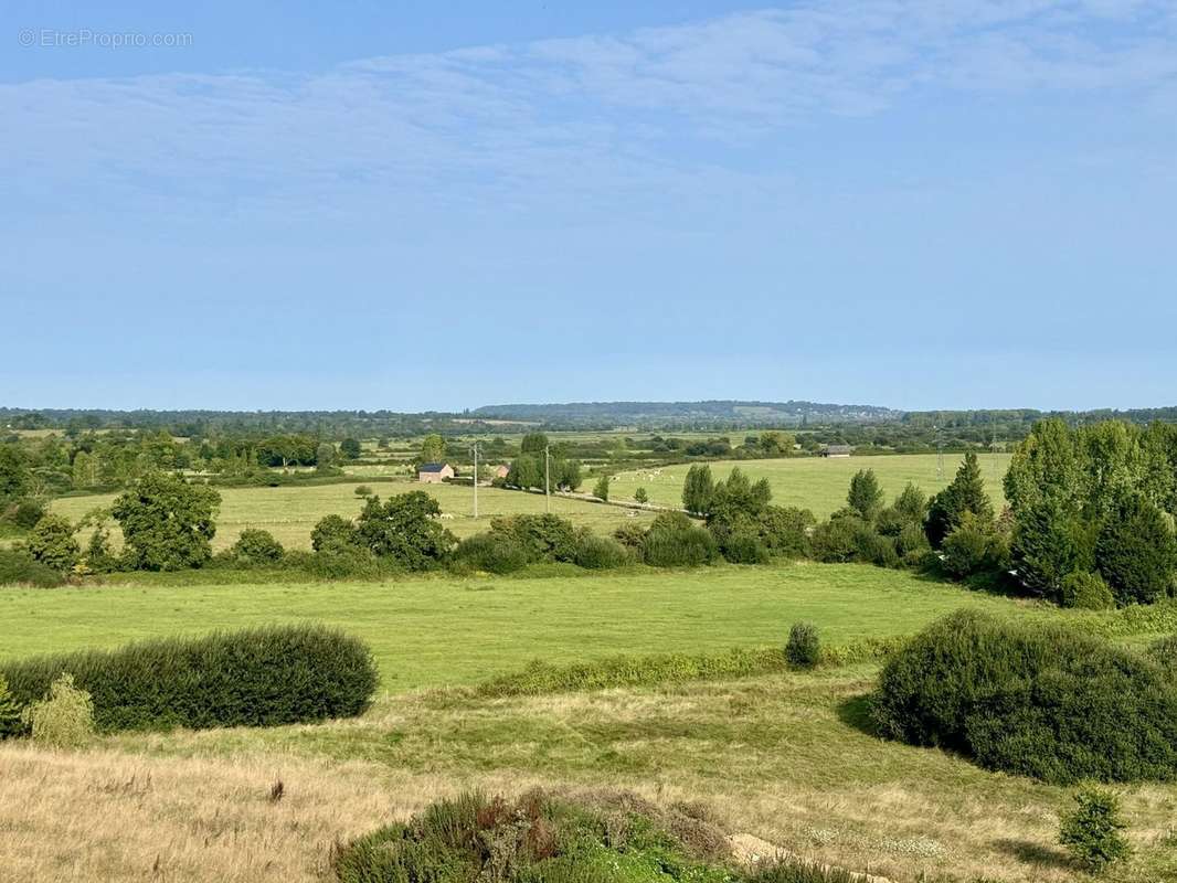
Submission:
[[[217,520],[214,549],[232,545],[242,527],[262,527],[290,549],[310,549],[311,530],[326,514],[358,514],[363,500],[355,496],[354,484],[293,485],[285,487],[220,487],[220,516]],[[450,484],[419,484],[417,482],[372,482],[372,490],[381,497],[407,491],[426,491],[437,498],[445,514],[453,516],[444,523],[458,537],[468,537],[490,527],[491,518],[518,512],[544,511],[539,493],[504,491],[498,487],[478,489],[478,518],[473,518],[473,489]],[[53,510],[78,520],[97,506],[108,506],[115,494],[65,497],[53,503]],[[578,525],[607,533],[623,522],[649,520],[644,512],[606,506],[587,500],[553,496],[552,512],[566,516]]]

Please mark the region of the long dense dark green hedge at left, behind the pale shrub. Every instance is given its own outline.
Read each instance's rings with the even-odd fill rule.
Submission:
[[[104,731],[351,717],[367,708],[377,684],[368,648],[321,625],[161,638],[0,665],[13,696],[26,704],[62,672],[93,696]]]

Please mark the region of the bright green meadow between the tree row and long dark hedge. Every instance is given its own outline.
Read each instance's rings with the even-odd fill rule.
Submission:
[[[906,635],[962,605],[1016,602],[866,565],[719,566],[578,577],[0,590],[0,658],[301,618],[375,650],[384,686],[466,684],[527,660],[779,644],[798,619],[827,640]]]

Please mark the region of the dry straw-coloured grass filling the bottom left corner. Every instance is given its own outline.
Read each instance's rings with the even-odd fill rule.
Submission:
[[[277,782],[282,795],[272,799]],[[516,779],[480,777],[488,791]],[[178,758],[0,746],[5,883],[298,883],[333,844],[463,783],[274,755]]]

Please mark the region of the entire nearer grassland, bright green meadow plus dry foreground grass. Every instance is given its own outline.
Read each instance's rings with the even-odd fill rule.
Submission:
[[[975,593],[863,565],[719,566],[385,583],[132,583],[0,592],[2,653],[314,618],[374,648],[384,692],[318,725],[101,737],[79,753],[0,748],[0,863],[16,878],[321,881],[331,844],[463,788],[624,788],[701,801],[746,831],[896,881],[1062,883],[1069,789],[986,772],[870,733],[873,664],[514,698],[474,684],[533,657],[779,645],[816,622],[830,643],[911,633],[963,605],[1022,617],[1116,617]],[[286,796],[270,801],[275,781]],[[1117,789],[1139,858],[1177,872],[1177,788]],[[86,795],[86,814],[71,812]],[[16,809],[19,808],[19,809]],[[77,850],[102,843],[87,862]],[[1170,845],[1166,845],[1170,844]]]

